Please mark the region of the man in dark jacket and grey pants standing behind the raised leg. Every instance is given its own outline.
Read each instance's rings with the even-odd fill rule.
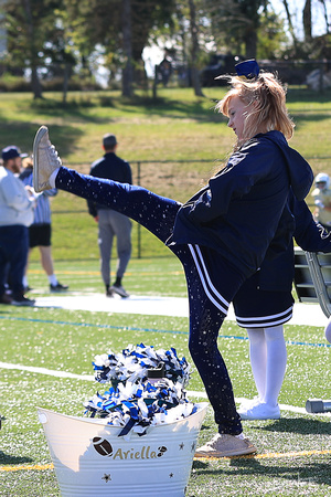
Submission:
[[[116,155],[118,142],[115,135],[107,134],[103,138],[104,157],[93,162],[90,176],[111,179],[121,183],[132,183],[130,165]],[[122,298],[129,297],[122,286],[122,277],[131,257],[131,221],[126,215],[95,201],[87,202],[88,212],[98,223],[98,243],[100,253],[100,272],[107,297],[114,294]],[[110,286],[110,260],[114,236],[117,239],[118,264],[116,279]]]

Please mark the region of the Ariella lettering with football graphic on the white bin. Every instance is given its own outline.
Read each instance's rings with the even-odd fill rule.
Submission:
[[[152,450],[150,445],[142,445],[139,451],[131,447],[127,451],[124,448],[114,450],[110,442],[107,438],[102,438],[99,436],[95,436],[93,438],[93,446],[96,452],[106,457],[111,457],[113,459],[157,459],[158,457],[162,457],[168,451],[163,445],[158,447],[158,450]]]

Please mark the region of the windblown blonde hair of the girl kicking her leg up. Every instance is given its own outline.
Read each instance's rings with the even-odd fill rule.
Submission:
[[[224,116],[229,117],[228,108],[233,97],[239,97],[247,105],[243,141],[253,138],[258,133],[271,130],[281,131],[287,139],[292,137],[295,124],[286,107],[286,88],[276,75],[261,72],[256,80],[246,80],[239,76],[229,76],[228,80],[232,88],[216,104],[215,108]]]

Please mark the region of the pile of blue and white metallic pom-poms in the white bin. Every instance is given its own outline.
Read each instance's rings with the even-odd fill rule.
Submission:
[[[164,364],[164,378],[154,383],[148,378],[148,370],[160,363]],[[173,348],[166,351],[143,343],[128,346],[121,353],[96,356],[93,366],[96,380],[110,382],[111,387],[103,395],[97,393],[86,401],[85,413],[121,426],[119,436],[128,436],[130,432],[143,435],[150,425],[178,421],[195,411],[184,389],[190,366],[185,358],[178,358]]]

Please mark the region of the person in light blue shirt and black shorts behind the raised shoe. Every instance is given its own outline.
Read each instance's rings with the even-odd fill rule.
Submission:
[[[23,171],[20,179],[28,187],[32,188],[33,180],[33,160],[26,157],[22,161]],[[39,247],[41,264],[47,275],[51,292],[65,292],[68,289],[67,285],[62,285],[54,273],[54,263],[52,257],[52,224],[51,224],[51,205],[50,197],[57,194],[56,188],[42,192],[36,197],[36,204],[34,209],[33,223],[29,226],[29,247],[30,252],[35,246]],[[28,257],[29,258],[29,257]],[[29,262],[29,261],[28,261]],[[30,289],[28,283],[28,264],[23,278],[25,289]]]

